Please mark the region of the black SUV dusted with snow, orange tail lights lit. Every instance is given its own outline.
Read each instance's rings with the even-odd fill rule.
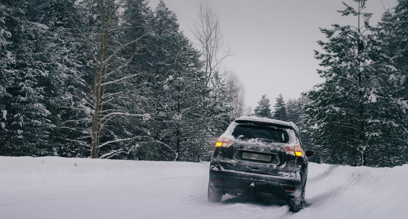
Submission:
[[[226,193],[272,197],[303,208],[307,158],[295,124],[242,116],[217,141],[211,157],[208,200]]]

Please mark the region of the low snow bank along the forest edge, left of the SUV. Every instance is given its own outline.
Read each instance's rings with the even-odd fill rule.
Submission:
[[[0,156],[0,192],[200,176],[197,169],[202,166],[185,162]]]

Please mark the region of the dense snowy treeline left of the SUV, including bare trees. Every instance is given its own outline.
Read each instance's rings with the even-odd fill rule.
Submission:
[[[205,160],[244,113],[219,51],[205,58],[163,1],[2,0],[0,156]]]

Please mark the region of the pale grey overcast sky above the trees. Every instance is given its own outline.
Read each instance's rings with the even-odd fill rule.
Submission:
[[[178,18],[180,30],[195,43],[189,31],[197,17],[200,0],[164,0]],[[356,7],[353,0],[207,0],[221,18],[221,30],[236,55],[224,65],[235,72],[245,85],[246,103],[254,109],[266,94],[271,100],[282,93],[285,101],[323,82],[316,69],[319,62],[313,50],[324,40],[319,28],[331,24],[357,25],[357,17],[341,17],[341,2]],[[159,0],[151,0],[154,9]],[[385,8],[396,0],[368,0],[365,12],[374,13],[370,25],[376,25]]]

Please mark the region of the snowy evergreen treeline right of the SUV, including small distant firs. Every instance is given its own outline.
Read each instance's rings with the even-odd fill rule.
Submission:
[[[354,24],[321,29],[327,40],[318,41],[323,52],[315,57],[325,81],[295,100],[299,114],[288,113],[299,108],[280,95],[269,116],[295,122],[299,115],[304,143],[322,163],[408,164],[408,0],[398,0],[378,27],[370,26],[366,0],[354,2],[339,11],[355,16]],[[262,99],[255,115],[267,111]]]

